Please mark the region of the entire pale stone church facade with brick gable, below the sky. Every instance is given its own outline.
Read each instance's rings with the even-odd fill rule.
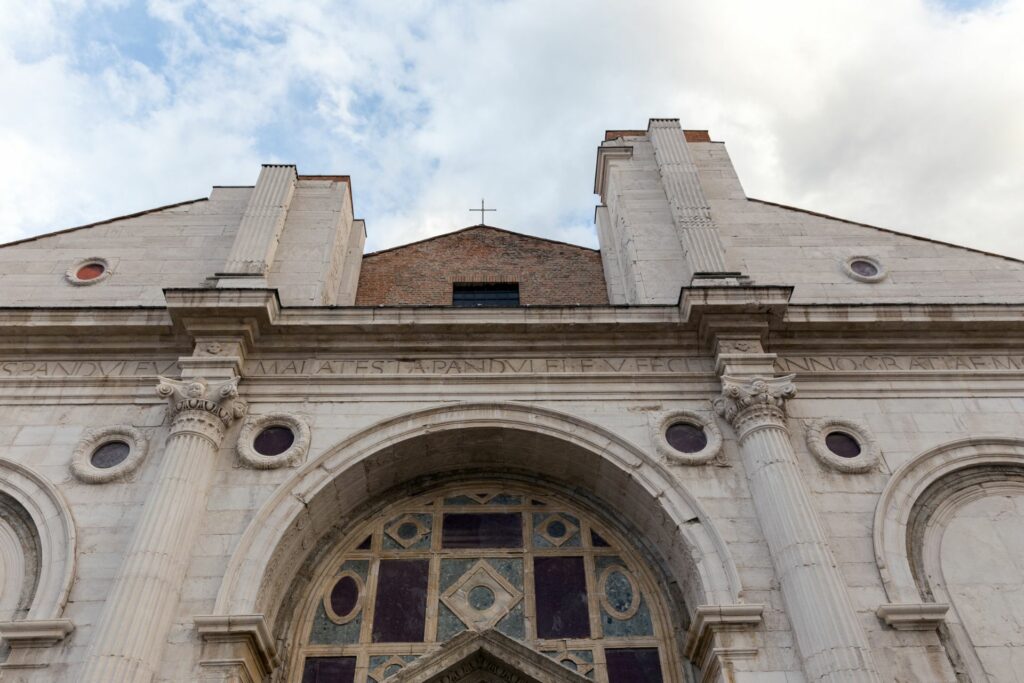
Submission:
[[[0,247],[2,681],[1024,680],[1024,263],[653,119],[600,250],[347,176]]]

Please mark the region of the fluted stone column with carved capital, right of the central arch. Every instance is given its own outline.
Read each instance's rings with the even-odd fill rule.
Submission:
[[[739,436],[751,496],[809,683],[879,681],[785,426],[793,376],[722,377],[715,408]]]

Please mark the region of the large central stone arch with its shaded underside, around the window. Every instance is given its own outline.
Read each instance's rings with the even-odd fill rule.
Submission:
[[[649,454],[564,413],[459,403],[400,415],[308,462],[258,511],[225,571],[216,614],[263,614],[325,539],[406,482],[465,471],[532,473],[621,513],[659,558],[688,610],[740,602],[727,547],[697,502]],[[275,629],[276,630],[276,629]]]

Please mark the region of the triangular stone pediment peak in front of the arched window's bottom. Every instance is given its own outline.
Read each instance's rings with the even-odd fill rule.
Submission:
[[[497,631],[467,632],[388,683],[586,683],[589,679]]]

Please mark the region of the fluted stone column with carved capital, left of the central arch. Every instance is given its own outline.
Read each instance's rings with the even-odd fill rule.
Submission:
[[[238,383],[237,377],[214,383],[161,378],[157,392],[170,403],[170,435],[80,681],[153,679],[206,509],[215,456],[226,428],[246,411]]]

